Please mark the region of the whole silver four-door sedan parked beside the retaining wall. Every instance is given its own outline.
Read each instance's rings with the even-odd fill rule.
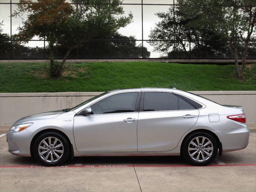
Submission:
[[[249,135],[243,107],[176,89],[140,88],[21,118],[7,140],[10,153],[34,156],[46,166],[69,156],[170,155],[207,165],[217,154],[246,148]]]

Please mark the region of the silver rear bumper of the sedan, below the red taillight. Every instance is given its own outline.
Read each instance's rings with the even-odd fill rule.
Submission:
[[[223,152],[236,151],[248,146],[250,129],[245,125],[238,129],[214,131],[222,143]]]

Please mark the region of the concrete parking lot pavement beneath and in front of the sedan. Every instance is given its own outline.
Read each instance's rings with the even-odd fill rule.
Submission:
[[[227,152],[209,166],[178,156],[81,157],[61,167],[10,154],[0,132],[0,191],[256,191],[256,132],[246,149]]]

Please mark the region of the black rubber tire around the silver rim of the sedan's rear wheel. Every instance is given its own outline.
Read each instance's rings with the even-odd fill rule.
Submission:
[[[189,154],[188,148],[189,147],[190,147],[190,149],[194,148],[194,145],[191,144],[190,142],[191,141],[195,141],[194,139],[197,138],[197,137],[199,137],[199,143],[202,142],[203,137],[207,138],[208,140],[210,140],[210,142],[212,143],[212,144],[210,144],[210,146],[212,145],[213,150],[212,151],[206,150],[206,147],[209,147],[209,146],[206,146],[204,149],[199,148],[198,150],[197,149],[196,150],[191,150],[190,151],[191,155],[194,152],[196,152],[196,154],[193,157],[191,157],[190,154]],[[194,144],[197,144],[197,142],[195,141]],[[204,144],[206,144],[206,142],[204,142]],[[182,144],[182,156],[184,157],[184,159],[189,164],[196,165],[196,166],[208,165],[208,164],[210,164],[216,158],[216,156],[218,154],[218,146],[219,145],[218,145],[217,140],[211,134],[209,134],[207,132],[194,132],[194,133],[190,134],[188,137],[186,137],[185,140],[183,141],[183,144]],[[195,146],[195,148],[197,148],[197,147]],[[209,157],[205,152],[209,152],[209,154],[211,153],[211,156],[209,155],[210,156]],[[193,158],[196,158],[199,153],[201,153],[199,155],[199,160],[193,159]],[[206,160],[202,159],[203,156],[204,156],[204,158]]]

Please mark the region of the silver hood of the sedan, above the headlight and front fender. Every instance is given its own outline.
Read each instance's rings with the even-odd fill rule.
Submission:
[[[26,116],[26,117],[19,119],[13,125],[21,124],[24,122],[33,122],[35,120],[50,119],[50,118],[59,116],[62,113],[65,113],[65,112],[63,110],[59,110],[59,111],[50,111],[50,112],[34,114],[34,115]]]

